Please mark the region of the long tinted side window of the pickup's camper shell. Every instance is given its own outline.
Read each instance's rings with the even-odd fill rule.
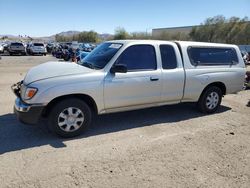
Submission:
[[[189,47],[188,55],[193,65],[232,65],[238,63],[233,48]]]

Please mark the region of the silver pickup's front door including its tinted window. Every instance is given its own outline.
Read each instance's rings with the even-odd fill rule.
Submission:
[[[127,73],[108,73],[105,77],[106,110],[160,101],[161,70],[157,69],[154,46],[130,46],[123,51],[115,64],[126,65]]]

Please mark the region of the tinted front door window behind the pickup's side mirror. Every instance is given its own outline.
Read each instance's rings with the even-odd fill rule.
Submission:
[[[117,59],[116,64],[124,64],[128,71],[156,70],[155,48],[152,45],[128,47]]]

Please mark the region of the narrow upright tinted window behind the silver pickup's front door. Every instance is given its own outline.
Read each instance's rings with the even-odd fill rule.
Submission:
[[[163,69],[175,69],[177,67],[177,60],[173,46],[160,45],[161,61]]]

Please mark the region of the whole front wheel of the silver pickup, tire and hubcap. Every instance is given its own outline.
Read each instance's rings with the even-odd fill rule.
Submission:
[[[53,107],[48,123],[52,132],[64,138],[71,138],[86,131],[91,120],[90,107],[80,99],[71,98],[65,99]]]

